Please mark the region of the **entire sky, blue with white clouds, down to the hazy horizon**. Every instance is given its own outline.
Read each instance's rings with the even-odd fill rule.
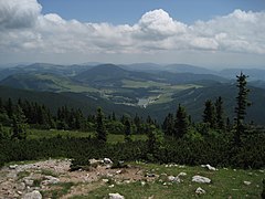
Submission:
[[[0,0],[0,64],[265,67],[264,0]]]

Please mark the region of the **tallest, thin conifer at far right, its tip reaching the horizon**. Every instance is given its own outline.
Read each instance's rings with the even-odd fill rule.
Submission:
[[[241,136],[245,134],[245,125],[244,119],[246,115],[246,107],[250,106],[250,102],[247,101],[247,95],[250,90],[246,88],[246,78],[248,76],[244,75],[242,72],[240,75],[236,75],[237,80],[237,88],[239,93],[236,96],[236,107],[235,107],[235,134],[234,134],[234,142],[236,145],[241,144]]]

